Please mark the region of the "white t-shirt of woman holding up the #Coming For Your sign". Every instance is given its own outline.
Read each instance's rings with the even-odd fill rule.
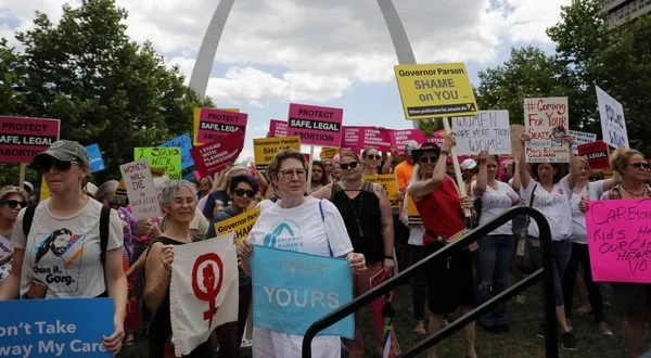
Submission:
[[[570,210],[571,191],[567,187],[567,177],[554,183],[550,193],[542,189],[540,183],[529,179],[528,186],[526,188],[523,186],[520,189],[520,196],[528,202],[532,190],[536,184],[538,186],[536,187],[533,206],[547,218],[551,230],[551,240],[563,241],[570,239],[572,234],[572,212]],[[540,236],[538,225],[533,219],[528,226],[528,234],[536,238]]]

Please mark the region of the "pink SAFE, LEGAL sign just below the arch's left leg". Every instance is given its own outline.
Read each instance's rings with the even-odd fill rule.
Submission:
[[[246,113],[216,108],[201,108],[199,113],[199,138],[200,143],[218,141],[227,135],[241,130],[246,132]]]

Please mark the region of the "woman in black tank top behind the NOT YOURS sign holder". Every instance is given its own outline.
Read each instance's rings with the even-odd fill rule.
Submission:
[[[344,218],[353,248],[362,253],[368,270],[355,279],[354,295],[371,290],[370,279],[381,270],[391,273],[394,268],[393,212],[382,186],[363,180],[363,164],[355,152],[344,152],[340,157],[343,181],[331,183],[315,192],[317,199],[329,199]],[[383,350],[384,331],[376,328],[375,346]],[[355,341],[346,341],[350,358],[363,357],[361,320],[355,320]]]

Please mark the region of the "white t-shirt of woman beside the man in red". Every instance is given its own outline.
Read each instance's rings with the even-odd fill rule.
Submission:
[[[472,182],[471,193],[474,196],[474,188],[476,181]],[[486,190],[482,194],[482,214],[480,216],[480,226],[486,225],[506,210],[510,209],[513,204],[518,203],[520,196],[518,193],[506,182],[497,181],[497,190],[486,184]],[[511,221],[502,225],[495,229],[489,235],[511,235],[513,234],[513,228]]]

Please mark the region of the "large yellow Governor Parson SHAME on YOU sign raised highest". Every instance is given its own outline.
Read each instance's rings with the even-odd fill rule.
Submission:
[[[465,64],[397,65],[394,72],[407,119],[477,114]]]

